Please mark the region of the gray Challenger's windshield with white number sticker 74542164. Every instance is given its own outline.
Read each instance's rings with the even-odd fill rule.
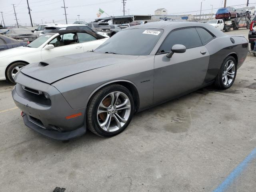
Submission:
[[[122,30],[100,45],[95,52],[122,55],[148,55],[158,42],[162,29]]]

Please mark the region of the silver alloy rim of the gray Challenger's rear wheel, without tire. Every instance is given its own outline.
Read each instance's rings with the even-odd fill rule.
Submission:
[[[228,60],[223,68],[222,81],[225,86],[228,86],[234,80],[236,66],[232,60]]]

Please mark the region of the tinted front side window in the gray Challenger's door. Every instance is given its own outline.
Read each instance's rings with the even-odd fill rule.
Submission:
[[[172,46],[182,44],[187,49],[202,46],[202,42],[195,28],[180,29],[171,32],[164,40],[159,53],[170,52]]]

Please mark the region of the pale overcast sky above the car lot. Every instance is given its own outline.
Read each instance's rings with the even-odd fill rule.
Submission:
[[[53,20],[57,24],[65,24],[63,0],[28,0],[33,23],[42,24],[52,23]],[[153,15],[158,8],[166,8],[168,14],[200,14],[200,5],[202,2],[202,14],[213,13],[220,7],[224,6],[224,0],[126,0],[125,14],[142,14]],[[227,6],[240,8],[246,6],[247,0],[227,0]],[[249,0],[249,6],[255,6],[256,0]],[[30,25],[30,17],[28,14],[26,0],[0,0],[0,12],[3,12],[3,18],[6,26],[16,23],[14,9],[15,4],[18,23],[22,25]],[[102,17],[123,15],[122,0],[65,0],[68,24],[78,20],[92,22],[97,18],[96,13],[99,8],[105,13]],[[107,14],[108,15],[107,15]],[[0,15],[0,22],[2,16]]]

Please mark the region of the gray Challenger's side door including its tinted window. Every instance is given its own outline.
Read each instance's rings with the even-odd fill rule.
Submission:
[[[186,52],[174,53],[172,58],[166,57],[174,44],[186,46]],[[176,98],[201,86],[209,58],[210,54],[196,28],[170,32],[154,60],[154,103]]]

